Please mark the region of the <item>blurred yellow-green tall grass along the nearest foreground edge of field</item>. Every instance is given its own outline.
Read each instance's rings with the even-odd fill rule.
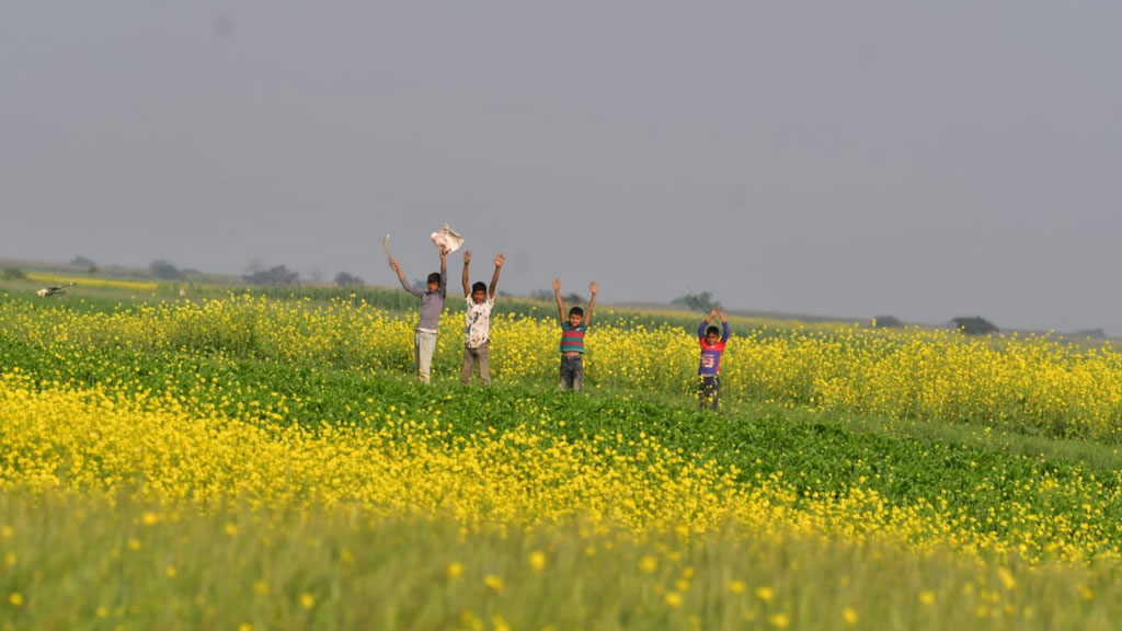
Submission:
[[[1110,629],[1122,615],[1113,567],[732,524],[682,540],[8,493],[0,542],[12,629]]]

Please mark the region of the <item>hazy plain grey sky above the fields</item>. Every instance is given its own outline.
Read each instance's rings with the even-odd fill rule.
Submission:
[[[0,258],[1122,335],[1122,2],[6,2]],[[462,257],[449,273],[458,283]],[[454,285],[453,285],[454,286]]]

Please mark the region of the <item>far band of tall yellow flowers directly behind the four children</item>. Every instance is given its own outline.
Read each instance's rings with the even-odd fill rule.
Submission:
[[[227,300],[140,303],[105,312],[43,310],[9,301],[7,335],[36,344],[105,345],[137,353],[222,351],[280,363],[407,372],[412,321],[364,303]],[[40,316],[47,312],[48,317]],[[555,326],[503,316],[493,327],[496,378],[549,382]],[[438,374],[456,378],[462,322],[441,322]],[[649,328],[616,318],[589,332],[591,385],[677,392],[693,386],[692,327]],[[1109,344],[1050,337],[965,339],[947,330],[843,328],[744,331],[723,359],[723,395],[900,419],[976,423],[1054,438],[1122,438],[1122,354]]]

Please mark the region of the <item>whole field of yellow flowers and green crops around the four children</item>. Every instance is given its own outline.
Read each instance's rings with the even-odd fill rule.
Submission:
[[[0,629],[1109,628],[1110,346],[608,314],[0,300]]]

